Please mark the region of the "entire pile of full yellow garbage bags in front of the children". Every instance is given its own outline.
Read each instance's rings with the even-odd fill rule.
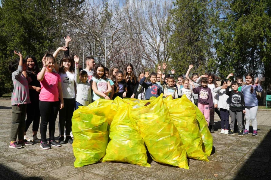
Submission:
[[[189,169],[187,158],[208,161],[213,147],[203,114],[185,95],[100,99],[74,111],[72,131],[74,167],[101,159],[150,167],[148,150],[156,162]]]

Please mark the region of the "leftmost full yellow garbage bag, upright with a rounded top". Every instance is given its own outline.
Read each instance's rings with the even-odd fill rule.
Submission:
[[[110,106],[109,106],[110,107]],[[98,109],[98,110],[97,110]],[[108,143],[107,121],[100,108],[82,107],[72,118],[74,167],[98,162]]]

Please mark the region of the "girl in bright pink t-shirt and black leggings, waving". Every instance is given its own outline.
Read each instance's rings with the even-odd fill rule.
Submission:
[[[61,88],[61,78],[57,73],[52,72],[55,67],[55,58],[51,54],[45,54],[42,58],[43,67],[38,73],[37,79],[41,84],[39,94],[40,122],[40,147],[50,149],[50,146],[60,147],[61,144],[55,141],[55,120],[58,110],[63,109],[64,101]],[[60,101],[59,101],[59,99]],[[49,144],[46,140],[47,125],[49,123]]]

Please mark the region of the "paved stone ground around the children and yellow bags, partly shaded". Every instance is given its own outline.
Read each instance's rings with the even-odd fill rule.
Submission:
[[[158,164],[152,159],[149,159],[150,168],[123,163],[74,168],[71,144],[50,150],[41,149],[39,144],[23,149],[8,148],[10,103],[0,100],[0,179],[271,179],[271,111],[258,111],[257,137],[220,134],[216,116],[216,132],[212,133],[215,152],[208,157],[210,162],[190,159],[189,170]]]

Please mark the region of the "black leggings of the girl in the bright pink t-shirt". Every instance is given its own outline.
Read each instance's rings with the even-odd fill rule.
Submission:
[[[39,109],[41,110],[40,111],[41,122],[39,131],[42,142],[47,142],[46,131],[48,123],[49,123],[50,140],[55,140],[55,120],[58,116],[59,104],[60,101],[55,102],[39,101]]]

